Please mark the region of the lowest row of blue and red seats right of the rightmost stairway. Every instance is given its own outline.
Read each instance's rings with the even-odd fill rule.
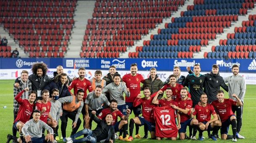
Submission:
[[[229,59],[255,59],[256,52],[205,52],[204,58],[209,59],[222,59],[222,58],[229,58]]]

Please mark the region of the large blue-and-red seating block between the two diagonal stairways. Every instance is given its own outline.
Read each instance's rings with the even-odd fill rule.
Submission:
[[[194,0],[194,5],[188,5],[187,11],[180,13],[181,17],[172,18],[172,23],[165,23],[164,29],[159,29],[158,34],[151,35],[151,40],[144,41],[144,46],[136,47],[136,52],[131,52],[128,56],[131,58],[192,58],[194,52],[201,51],[201,46],[207,46],[209,40],[214,40],[217,34],[224,32],[224,28],[230,27],[232,22],[237,21],[238,15],[246,15],[248,8],[254,8],[254,2]],[[250,17],[251,21],[245,21],[245,26],[254,26],[253,16]],[[244,31],[245,29],[246,27]],[[250,27],[248,29],[251,30]],[[254,27],[252,29],[254,30]],[[250,38],[254,40],[240,40],[240,43],[246,41],[255,45],[255,34],[250,34]],[[231,43],[226,41],[232,40],[225,40],[225,43]],[[239,40],[237,41],[239,43]],[[208,58],[223,58],[225,55],[226,53],[204,54]],[[232,58],[240,58],[240,56],[235,54]]]

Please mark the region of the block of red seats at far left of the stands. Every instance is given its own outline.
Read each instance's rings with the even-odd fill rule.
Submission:
[[[0,6],[0,23],[29,57],[64,56],[76,1],[10,0]]]

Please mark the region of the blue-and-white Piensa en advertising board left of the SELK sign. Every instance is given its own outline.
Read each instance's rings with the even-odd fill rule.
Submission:
[[[125,69],[125,59],[123,61],[120,61],[118,59],[113,59],[112,61],[102,59],[100,61],[100,64],[100,67],[103,69],[108,69],[112,65],[115,66],[116,69]]]

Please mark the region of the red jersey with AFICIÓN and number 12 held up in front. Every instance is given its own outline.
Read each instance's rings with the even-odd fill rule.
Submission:
[[[175,110],[170,106],[155,107],[156,136],[160,138],[177,137],[178,129],[175,123]]]

